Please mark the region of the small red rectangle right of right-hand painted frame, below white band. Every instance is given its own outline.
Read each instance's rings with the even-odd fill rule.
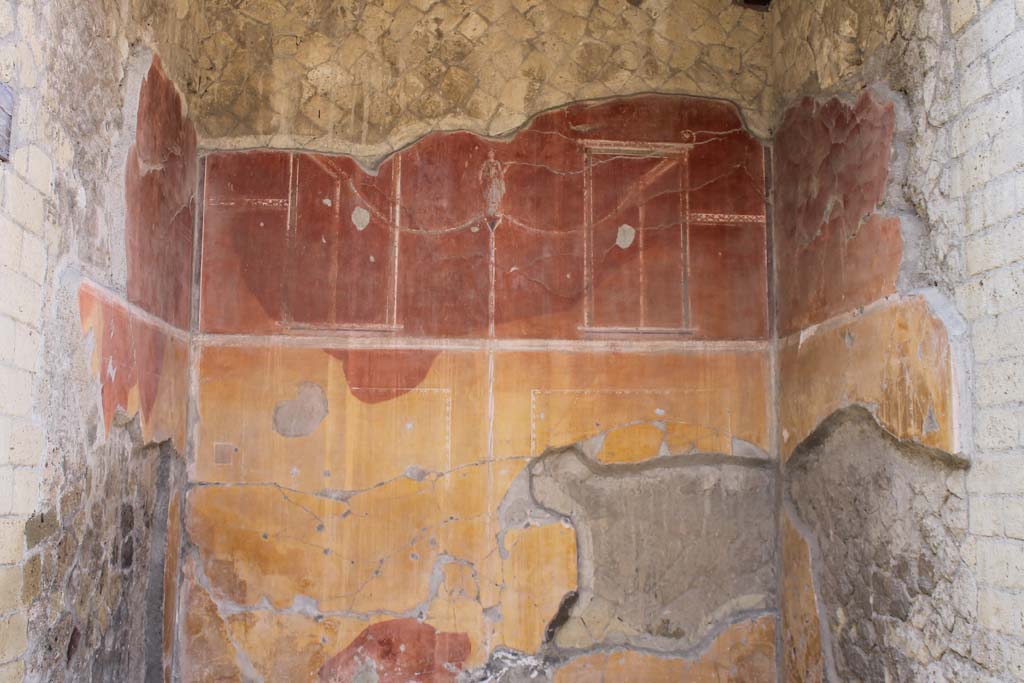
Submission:
[[[691,225],[690,306],[696,335],[708,339],[768,336],[765,227]]]

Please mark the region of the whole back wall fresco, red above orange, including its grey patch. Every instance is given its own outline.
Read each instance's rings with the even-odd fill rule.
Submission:
[[[182,680],[772,678],[765,156],[669,96],[207,156]]]

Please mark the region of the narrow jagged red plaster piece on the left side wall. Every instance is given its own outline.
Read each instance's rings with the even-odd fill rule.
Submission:
[[[125,168],[128,299],[181,329],[191,304],[196,170],[196,129],[154,58]]]

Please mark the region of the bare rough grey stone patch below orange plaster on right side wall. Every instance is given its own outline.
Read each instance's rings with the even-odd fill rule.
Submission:
[[[835,413],[786,463],[787,513],[811,548],[825,680],[978,680],[933,678],[964,666],[977,616],[966,467],[898,440],[859,407]]]

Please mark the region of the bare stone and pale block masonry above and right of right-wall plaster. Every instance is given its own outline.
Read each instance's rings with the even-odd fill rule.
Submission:
[[[1024,3],[776,0],[770,22],[779,106],[877,82],[906,97],[886,203],[902,212],[904,238],[916,214],[923,239],[904,257],[900,290],[936,287],[963,317],[956,447],[973,464],[979,583],[970,656],[992,680],[1016,680],[1024,674]]]

